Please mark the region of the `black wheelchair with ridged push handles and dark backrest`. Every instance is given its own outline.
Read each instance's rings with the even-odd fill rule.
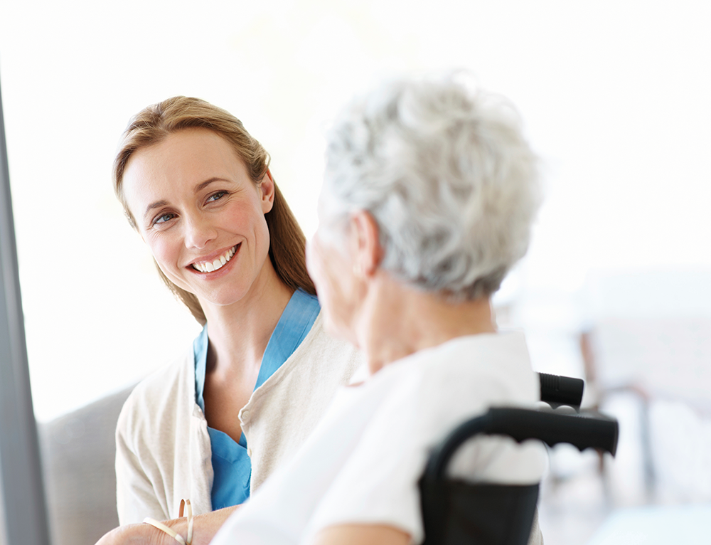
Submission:
[[[490,408],[457,426],[430,453],[419,480],[423,545],[526,545],[538,503],[538,483],[497,485],[448,478],[451,457],[476,435],[506,435],[518,443],[570,443],[615,455],[617,420],[579,411],[583,381],[540,374],[541,401],[550,408]],[[561,407],[563,406],[563,407]],[[560,407],[560,408],[559,408]],[[572,407],[574,414],[564,413]]]

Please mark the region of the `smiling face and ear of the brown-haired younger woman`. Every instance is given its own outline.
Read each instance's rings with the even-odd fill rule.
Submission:
[[[161,270],[201,303],[230,305],[267,282],[274,184],[252,182],[217,133],[186,129],[138,149],[122,190]]]

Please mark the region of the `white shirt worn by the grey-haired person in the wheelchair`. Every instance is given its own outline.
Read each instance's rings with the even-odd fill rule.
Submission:
[[[522,334],[459,337],[341,388],[294,460],[228,519],[214,545],[309,542],[333,524],[387,524],[424,539],[417,481],[427,455],[489,406],[532,406],[538,381]],[[451,473],[538,482],[542,445],[485,438],[465,445]]]

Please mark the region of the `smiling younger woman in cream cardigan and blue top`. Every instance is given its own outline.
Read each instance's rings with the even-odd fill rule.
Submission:
[[[176,519],[190,498],[197,545],[303,443],[360,358],[324,332],[301,228],[267,152],[230,113],[186,97],[139,112],[114,189],[164,282],[204,326],[124,406],[119,521]]]

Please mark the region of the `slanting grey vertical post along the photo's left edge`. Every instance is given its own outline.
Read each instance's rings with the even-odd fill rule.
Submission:
[[[0,475],[8,545],[49,545],[0,93]]]

